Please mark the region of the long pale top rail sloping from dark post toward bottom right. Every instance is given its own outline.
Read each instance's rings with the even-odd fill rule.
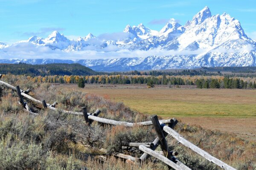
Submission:
[[[219,167],[223,168],[224,170],[236,170],[235,168],[229,166],[228,164],[224,163],[223,161],[211,156],[209,153],[206,151],[202,150],[201,148],[195,146],[191,142],[187,141],[186,139],[183,138],[179,133],[177,133],[175,130],[168,126],[164,126],[163,130],[166,131],[169,135],[174,137],[178,142],[183,144],[186,147],[189,147],[189,149],[195,151],[199,155],[203,156],[205,159],[208,161],[211,161],[212,163],[218,165]]]

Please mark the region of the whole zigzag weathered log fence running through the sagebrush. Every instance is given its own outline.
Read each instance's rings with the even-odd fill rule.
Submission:
[[[0,78],[1,77],[2,77],[2,75],[0,74]],[[123,146],[124,149],[128,148],[128,147],[138,147],[138,149],[143,152],[143,154],[140,156],[140,158],[136,158],[136,157],[133,157],[130,155],[125,155],[122,153],[114,153],[113,155],[116,157],[120,157],[122,159],[128,159],[128,160],[131,160],[134,162],[143,162],[148,158],[148,156],[154,156],[155,158],[159,159],[160,161],[163,161],[169,167],[172,167],[175,170],[191,170],[189,167],[187,167],[185,164],[180,162],[175,157],[178,154],[177,152],[169,150],[169,147],[168,147],[168,144],[166,141],[166,136],[171,135],[178,142],[180,142],[180,144],[183,144],[184,146],[189,147],[189,149],[193,150],[195,153],[198,153],[199,155],[203,156],[208,161],[218,165],[219,167],[223,168],[224,170],[236,170],[235,168],[233,168],[233,167],[229,166],[228,164],[224,163],[223,161],[211,156],[206,151],[202,150],[201,148],[195,146],[188,140],[184,139],[183,136],[181,136],[179,133],[177,133],[173,129],[178,122],[175,118],[167,119],[167,120],[158,120],[157,116],[155,115],[155,116],[151,117],[151,121],[147,121],[147,122],[135,122],[135,123],[120,122],[120,121],[115,121],[115,120],[111,120],[111,119],[105,119],[105,118],[98,117],[99,113],[100,113],[99,109],[97,109],[94,113],[87,113],[86,108],[83,108],[83,112],[59,110],[59,109],[55,108],[55,106],[58,104],[57,102],[54,102],[51,105],[51,104],[48,104],[45,100],[40,101],[40,100],[33,98],[32,96],[29,96],[28,94],[29,94],[30,89],[23,91],[19,88],[19,86],[14,87],[14,86],[9,85],[8,83],[3,82],[3,81],[0,81],[0,84],[5,85],[6,87],[11,88],[14,91],[16,91],[17,95],[19,96],[19,99],[20,99],[20,101],[19,101],[20,105],[23,106],[25,111],[27,111],[31,114],[34,114],[34,115],[37,115],[38,113],[33,113],[30,110],[28,104],[26,102],[24,102],[23,97],[31,100],[32,102],[40,104],[41,107],[44,109],[50,109],[50,110],[54,110],[54,111],[58,110],[63,113],[73,114],[73,115],[82,115],[82,116],[84,116],[84,120],[87,122],[87,125],[89,125],[89,126],[93,121],[110,124],[110,125],[122,125],[125,127],[133,127],[135,125],[137,125],[137,126],[153,125],[154,126],[154,129],[157,133],[157,138],[153,142],[148,142],[148,143],[131,142],[131,143],[128,143],[128,146]],[[162,149],[161,152],[155,151],[159,145]]]

